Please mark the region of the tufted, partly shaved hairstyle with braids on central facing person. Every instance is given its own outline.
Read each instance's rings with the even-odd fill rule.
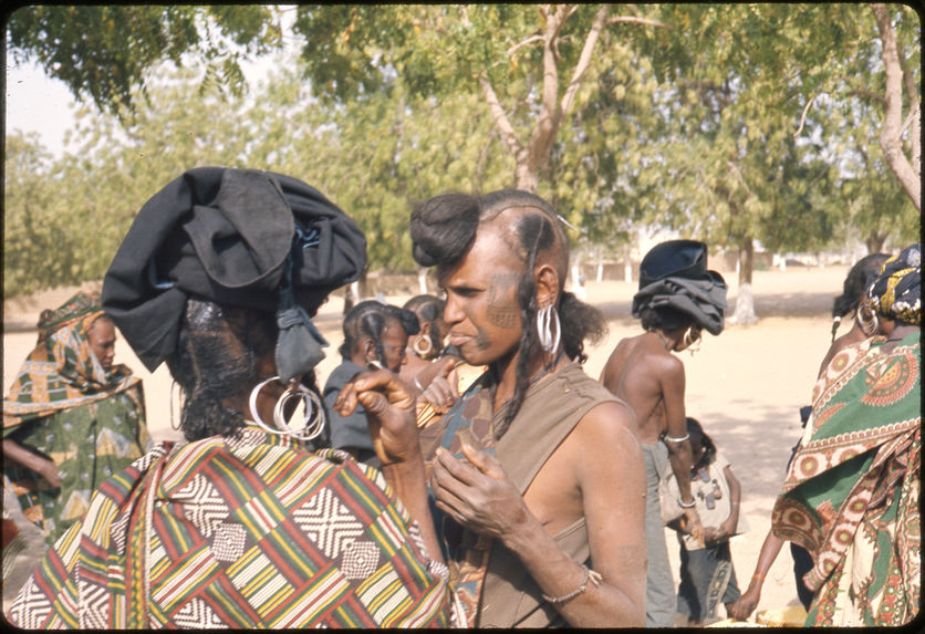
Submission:
[[[534,194],[517,189],[492,191],[484,196],[444,194],[426,200],[412,211],[410,235],[414,259],[438,271],[456,266],[468,252],[480,227],[508,210],[521,211],[511,219],[506,233],[515,252],[523,259],[517,301],[523,332],[517,363],[517,385],[511,406],[497,432],[500,437],[523,404],[530,377],[528,364],[541,354],[537,334],[537,284],[533,271],[539,262],[549,262],[559,276],[559,319],[562,350],[570,358],[586,361],[584,340],[599,341],[606,334],[606,322],[594,308],[564,292],[569,267],[569,242],[560,226],[560,216],[549,202]]]

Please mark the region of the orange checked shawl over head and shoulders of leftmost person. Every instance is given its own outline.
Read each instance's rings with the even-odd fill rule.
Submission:
[[[96,293],[80,292],[39,319],[39,341],[3,399],[3,429],[124,392],[141,380],[124,365],[108,373],[86,333],[104,314]]]

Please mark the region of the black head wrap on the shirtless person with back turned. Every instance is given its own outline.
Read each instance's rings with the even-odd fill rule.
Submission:
[[[643,309],[674,309],[701,329],[719,334],[726,310],[726,281],[707,270],[707,246],[696,240],[668,240],[653,247],[640,264],[640,291],[633,316]]]

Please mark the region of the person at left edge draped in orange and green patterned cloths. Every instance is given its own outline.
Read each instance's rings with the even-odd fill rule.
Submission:
[[[51,545],[150,436],[142,382],[114,364],[116,331],[98,294],[79,292],[42,311],[38,328],[3,399],[3,474]]]

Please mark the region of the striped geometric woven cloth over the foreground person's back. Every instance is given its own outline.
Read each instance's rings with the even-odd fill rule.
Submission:
[[[382,474],[252,426],[162,443],[94,493],[9,611],[27,628],[448,627]]]

